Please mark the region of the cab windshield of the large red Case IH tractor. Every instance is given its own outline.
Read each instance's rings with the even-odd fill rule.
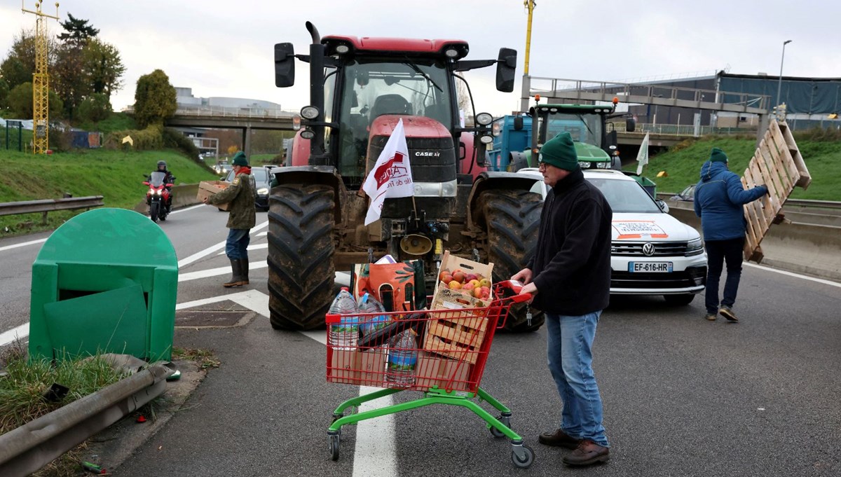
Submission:
[[[450,76],[441,61],[357,58],[344,70],[338,112],[341,176],[364,176],[369,129],[378,116],[426,116],[452,130]]]

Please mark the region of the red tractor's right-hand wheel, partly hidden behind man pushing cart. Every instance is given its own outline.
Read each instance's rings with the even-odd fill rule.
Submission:
[[[490,190],[479,195],[479,207],[488,235],[488,261],[494,264],[494,281],[509,280],[534,255],[543,210],[541,197],[529,191]],[[526,312],[525,304],[512,306],[505,331],[525,333],[543,325],[543,312],[531,310],[532,324]]]

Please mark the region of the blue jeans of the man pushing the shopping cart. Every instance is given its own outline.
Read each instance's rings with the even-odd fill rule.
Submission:
[[[610,447],[601,422],[601,396],[591,352],[601,311],[580,317],[545,315],[549,371],[563,401],[561,428],[571,438],[592,439]]]

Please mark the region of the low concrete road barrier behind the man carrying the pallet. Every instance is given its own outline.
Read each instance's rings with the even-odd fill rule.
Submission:
[[[669,203],[669,214],[701,231],[694,210]],[[769,228],[761,247],[762,265],[841,281],[841,227],[786,221]]]

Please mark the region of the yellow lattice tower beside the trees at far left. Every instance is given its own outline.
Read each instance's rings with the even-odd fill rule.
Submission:
[[[24,8],[20,0],[20,9],[24,13],[34,13],[35,18],[35,72],[32,74],[32,152],[45,154],[50,145],[50,75],[47,72],[47,19],[58,18],[41,12],[41,0],[35,2],[35,9]]]

